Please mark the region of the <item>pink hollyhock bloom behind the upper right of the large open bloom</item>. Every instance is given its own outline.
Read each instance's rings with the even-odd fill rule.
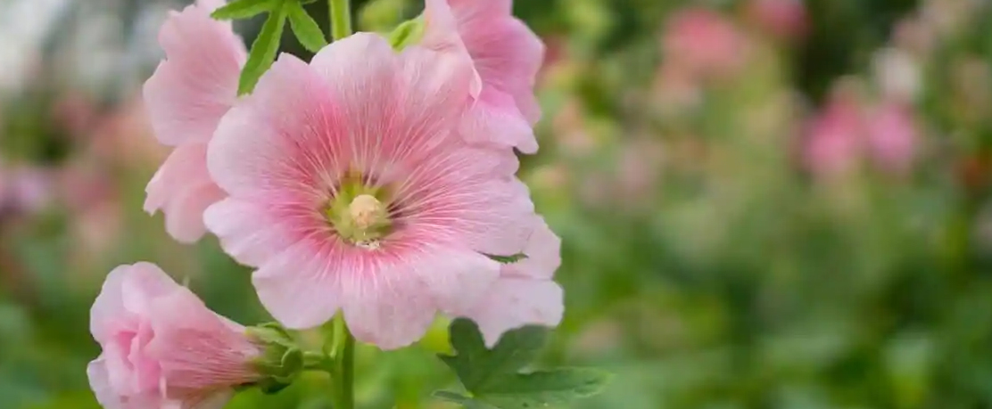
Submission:
[[[462,133],[536,153],[533,126],[541,118],[534,95],[544,60],[541,39],[513,17],[513,0],[427,0],[422,45],[456,49],[471,57],[480,83]]]

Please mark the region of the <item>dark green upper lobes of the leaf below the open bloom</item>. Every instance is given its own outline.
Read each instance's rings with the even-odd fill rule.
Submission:
[[[450,327],[451,347],[455,356],[438,356],[458,375],[465,388],[486,390],[500,376],[515,374],[538,357],[548,329],[528,326],[503,335],[492,350],[486,349],[475,323],[460,318]]]

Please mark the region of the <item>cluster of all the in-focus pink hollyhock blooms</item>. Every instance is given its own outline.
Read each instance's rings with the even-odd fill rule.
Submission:
[[[210,17],[222,5],[169,17],[144,89],[174,148],[145,209],[171,236],[215,235],[290,329],[340,314],[388,350],[438,313],[476,321],[489,345],[558,324],[560,241],[515,175],[515,150],[538,150],[544,46],[512,0],[427,0],[404,44],[358,33],[309,62],[282,54],[242,96],[248,52]],[[151,264],[114,270],[92,320],[104,353],[89,374],[106,407],[222,403],[265,377],[251,363],[264,343]]]

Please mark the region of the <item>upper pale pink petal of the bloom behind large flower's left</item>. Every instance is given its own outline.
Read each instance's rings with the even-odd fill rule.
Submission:
[[[145,83],[152,128],[167,145],[206,142],[237,99],[244,44],[211,9],[189,6],[162,27],[167,58]]]

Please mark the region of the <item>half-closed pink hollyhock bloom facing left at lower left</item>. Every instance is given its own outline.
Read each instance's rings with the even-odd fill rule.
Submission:
[[[122,265],[90,311],[103,353],[86,374],[107,409],[214,409],[260,378],[245,328],[211,312],[157,265]]]

